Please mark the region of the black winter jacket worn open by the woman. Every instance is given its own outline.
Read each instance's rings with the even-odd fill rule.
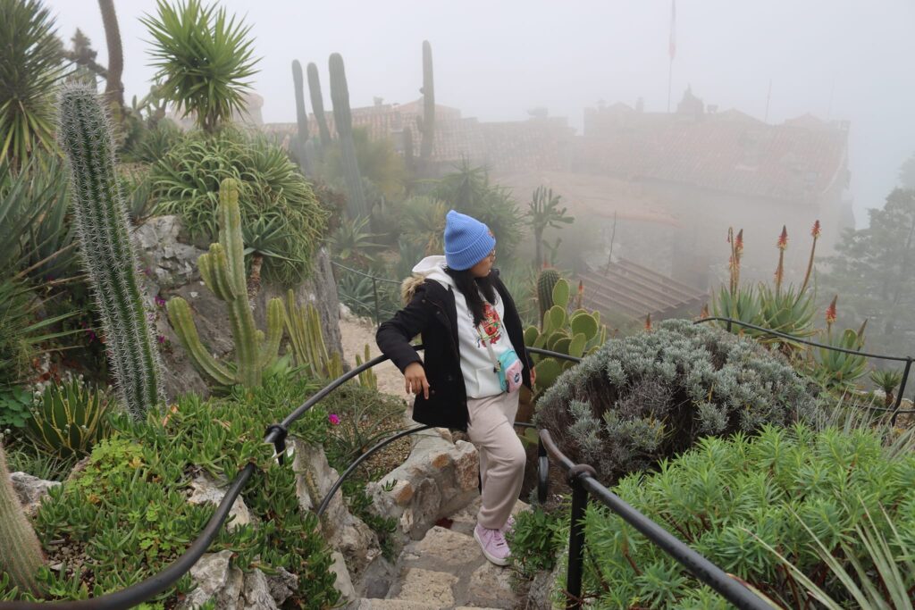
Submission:
[[[531,387],[531,359],[524,348],[524,334],[521,318],[511,294],[493,270],[493,285],[498,291],[505,314],[502,323],[508,331],[511,347],[518,357],[527,364],[524,367],[524,385]],[[425,362],[410,345],[410,340],[422,334],[425,346]],[[417,394],[413,406],[413,419],[440,428],[454,428],[467,431],[469,415],[467,389],[460,370],[458,351],[458,311],[455,294],[436,280],[420,284],[410,303],[393,318],[379,326],[375,335],[382,354],[404,372],[413,362],[422,362],[425,377],[429,381],[429,398]]]

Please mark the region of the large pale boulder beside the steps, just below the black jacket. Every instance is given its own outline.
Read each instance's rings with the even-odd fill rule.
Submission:
[[[398,520],[404,544],[422,539],[438,519],[466,507],[479,495],[478,486],[477,448],[465,441],[451,443],[450,434],[433,429],[416,433],[404,464],[366,485],[366,494],[376,513]]]

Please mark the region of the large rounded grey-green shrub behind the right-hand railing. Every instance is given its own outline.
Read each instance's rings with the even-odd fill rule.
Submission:
[[[666,320],[608,340],[556,380],[534,421],[605,483],[655,465],[700,436],[820,417],[807,384],[750,339]]]

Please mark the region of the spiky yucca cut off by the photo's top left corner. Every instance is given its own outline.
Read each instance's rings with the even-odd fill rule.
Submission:
[[[54,90],[63,76],[54,17],[38,0],[0,0],[0,157],[14,166],[56,148]]]

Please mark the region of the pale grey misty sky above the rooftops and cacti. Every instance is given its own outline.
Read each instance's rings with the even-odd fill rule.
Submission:
[[[68,40],[76,27],[106,63],[93,0],[45,0]],[[127,99],[142,97],[148,35],[137,17],[155,0],[115,2],[124,40]],[[432,43],[436,102],[483,121],[523,120],[545,106],[580,130],[597,100],[646,110],[667,106],[669,0],[407,2],[223,0],[246,20],[262,57],[255,90],[264,120],[295,121],[290,64],[314,61],[329,108],[328,55],[346,62],[351,103],[419,97],[423,39]],[[770,123],[811,112],[851,121],[852,194],[858,226],[881,207],[899,165],[915,152],[915,1],[680,0],[673,105],[687,84],[719,111]],[[310,108],[309,108],[310,112]],[[828,228],[826,228],[828,230]]]

